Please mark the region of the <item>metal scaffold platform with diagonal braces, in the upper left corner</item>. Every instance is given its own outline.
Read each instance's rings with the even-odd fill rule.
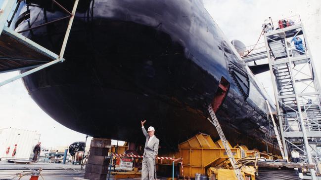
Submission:
[[[69,15],[63,19],[70,18],[59,55],[19,34],[46,26],[47,24],[57,22],[58,20],[31,27],[24,31],[15,32],[10,28],[10,24],[16,16],[21,0],[4,0],[2,2],[0,7],[0,43],[4,45],[0,48],[0,73],[19,70],[29,71],[0,82],[0,87],[26,75],[42,70],[48,66],[64,61],[63,55],[75,17],[78,1],[79,0],[75,0],[72,12],[69,12],[58,2],[52,0],[52,2],[55,3],[62,11]],[[21,51],[21,48],[24,50]]]

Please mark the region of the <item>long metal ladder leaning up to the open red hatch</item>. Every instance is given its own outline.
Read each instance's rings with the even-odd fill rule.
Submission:
[[[230,161],[230,163],[231,163],[231,165],[232,165],[232,167],[233,167],[233,169],[235,171],[235,175],[236,175],[237,179],[238,180],[243,180],[243,176],[241,174],[241,171],[238,168],[238,166],[236,165],[236,161],[234,159],[232,151],[229,148],[228,141],[225,138],[225,135],[224,135],[224,133],[222,131],[221,125],[220,125],[219,121],[217,120],[215,112],[214,112],[214,110],[213,110],[211,105],[208,106],[208,111],[210,112],[211,117],[212,117],[212,120],[209,119],[209,121],[216,127],[216,130],[217,130],[217,132],[218,132],[218,134],[219,134],[219,136],[220,136],[220,138],[222,140],[224,148],[225,148],[225,150],[226,150],[226,152],[227,152],[227,154],[229,156],[229,161]]]

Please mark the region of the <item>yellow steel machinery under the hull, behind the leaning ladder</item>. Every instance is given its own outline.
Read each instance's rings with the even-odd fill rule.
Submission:
[[[249,161],[256,161],[260,158],[260,152],[249,150],[244,145],[229,147],[241,166],[244,180],[255,180],[256,169],[253,166],[244,165]],[[206,134],[197,134],[191,139],[179,144],[180,151],[175,153],[175,157],[183,158],[183,175],[180,167],[180,176],[194,178],[195,174],[207,174],[211,180],[236,180],[234,171],[229,164],[229,157],[225,151],[221,140],[213,142],[212,138]],[[272,156],[265,154],[265,158],[273,159]],[[176,162],[179,163],[179,162]],[[170,161],[162,161],[158,164],[168,164]]]

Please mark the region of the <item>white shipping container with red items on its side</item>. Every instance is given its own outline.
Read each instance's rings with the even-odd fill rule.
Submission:
[[[5,128],[0,129],[0,158],[29,160],[33,147],[39,142],[36,131]],[[14,154],[14,149],[16,153]]]

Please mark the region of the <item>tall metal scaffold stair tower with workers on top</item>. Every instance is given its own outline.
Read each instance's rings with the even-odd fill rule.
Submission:
[[[321,88],[308,38],[301,19],[295,23],[280,20],[276,30],[271,24],[271,28],[265,26],[262,47],[252,51],[253,47],[254,53],[244,56],[243,60],[268,59],[284,155],[288,157],[288,152],[297,151],[301,163],[316,164],[319,169]],[[315,170],[310,172],[315,180]]]

